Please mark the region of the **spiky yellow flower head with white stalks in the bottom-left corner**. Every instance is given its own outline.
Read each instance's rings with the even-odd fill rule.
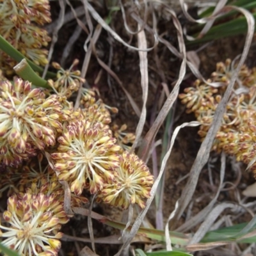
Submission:
[[[8,226],[0,225],[4,246],[16,250],[19,255],[58,255],[62,233],[60,220],[54,216],[51,196],[26,193],[21,198],[8,198],[3,218]],[[57,207],[56,205],[54,205]]]

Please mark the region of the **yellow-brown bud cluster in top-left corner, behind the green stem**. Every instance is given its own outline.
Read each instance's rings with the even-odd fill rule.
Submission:
[[[0,0],[0,35],[37,65],[47,64],[47,46],[51,38],[39,28],[51,22],[48,0]],[[16,65],[4,52],[0,53],[1,68],[12,72]]]

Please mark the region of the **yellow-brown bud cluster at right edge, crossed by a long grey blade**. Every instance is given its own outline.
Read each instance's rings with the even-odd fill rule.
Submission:
[[[230,78],[234,74],[236,64],[231,60],[216,65],[211,79],[204,83],[196,80],[192,87],[180,93],[179,98],[186,104],[187,113],[195,113],[202,125],[198,134],[204,138],[212,124],[215,110],[220,103]],[[216,86],[216,87],[214,87]],[[224,150],[227,154],[236,156],[237,161],[248,164],[256,177],[255,154],[255,121],[256,121],[256,73],[255,68],[243,65],[234,90],[227,103],[225,114],[218,131],[213,150]]]

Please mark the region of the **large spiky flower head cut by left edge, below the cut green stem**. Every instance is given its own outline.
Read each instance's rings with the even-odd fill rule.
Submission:
[[[45,99],[39,88],[20,78],[0,82],[0,161],[17,166],[36,150],[55,145],[62,106],[56,95]]]

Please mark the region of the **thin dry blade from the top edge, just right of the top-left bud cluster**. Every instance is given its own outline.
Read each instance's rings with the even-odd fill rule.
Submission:
[[[61,27],[63,26],[63,22],[64,22],[66,3],[65,3],[64,0],[59,0],[59,3],[60,3],[60,15],[59,15],[59,18],[58,18],[58,24],[53,29],[53,32],[52,32],[52,42],[51,42],[51,47],[49,49],[49,53],[48,53],[48,57],[47,57],[48,63],[47,63],[47,65],[45,65],[44,73],[42,75],[43,78],[46,76],[47,70],[49,68],[49,64],[50,64],[50,61],[51,61],[51,58],[52,58],[54,45],[56,44],[56,42],[58,40],[58,32],[61,29]]]

